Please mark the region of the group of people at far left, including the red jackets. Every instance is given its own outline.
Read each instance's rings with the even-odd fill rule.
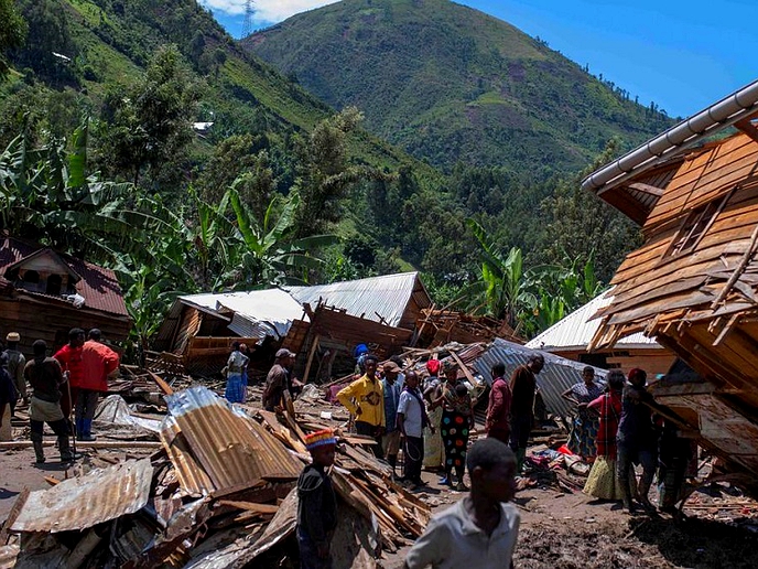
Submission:
[[[118,353],[102,343],[98,329],[91,329],[88,334],[79,328],[72,329],[68,343],[52,357],[47,355],[45,341],[36,340],[30,361],[18,350],[21,342],[18,332],[10,332],[6,340],[8,348],[0,356],[0,418],[4,421],[13,415],[21,399],[29,406],[36,462],[45,462],[44,423],[57,437],[61,460],[74,460],[72,436],[82,441],[96,439],[91,430],[95,410],[100,394],[108,390],[108,377],[118,369]]]

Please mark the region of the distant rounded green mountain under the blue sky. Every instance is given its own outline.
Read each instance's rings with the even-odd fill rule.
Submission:
[[[366,127],[450,171],[584,168],[613,137],[672,121],[507,22],[448,0],[343,0],[242,45]]]

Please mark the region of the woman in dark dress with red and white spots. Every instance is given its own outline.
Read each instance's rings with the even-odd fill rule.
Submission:
[[[434,407],[442,407],[440,434],[445,447],[445,477],[441,484],[453,485],[453,469],[458,479],[456,490],[464,492],[463,474],[466,466],[468,434],[474,428],[474,402],[468,389],[458,383],[458,368],[455,364],[445,365],[445,383],[437,390]]]

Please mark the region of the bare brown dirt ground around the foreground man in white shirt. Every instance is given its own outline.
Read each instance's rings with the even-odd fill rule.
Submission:
[[[441,489],[435,474],[424,473],[423,479],[430,482],[431,491],[426,495],[435,511],[464,496]],[[521,512],[515,555],[517,568],[747,569],[758,566],[758,533],[735,527],[733,520],[697,518],[694,512],[684,520],[667,515],[629,516],[618,504],[551,487],[519,492],[516,504]],[[748,527],[758,530],[758,525],[748,524]],[[381,567],[401,569],[408,549],[387,556]]]

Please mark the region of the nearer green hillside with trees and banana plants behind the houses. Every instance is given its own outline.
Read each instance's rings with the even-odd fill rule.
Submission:
[[[372,138],[194,0],[7,7],[0,230],[115,268],[140,345],[176,293],[411,268],[441,304],[531,334],[634,241],[578,173],[445,175]]]

